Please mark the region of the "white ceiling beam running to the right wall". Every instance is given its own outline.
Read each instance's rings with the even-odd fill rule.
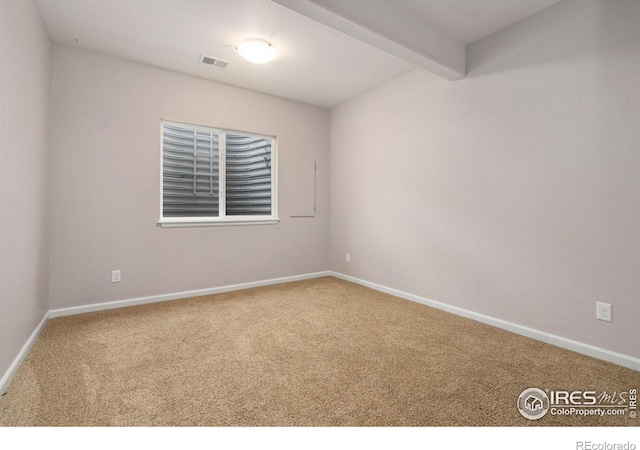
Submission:
[[[400,14],[389,0],[272,0],[448,80],[466,74],[465,46]]]

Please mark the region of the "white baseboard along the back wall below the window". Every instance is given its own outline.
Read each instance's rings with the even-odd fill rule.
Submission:
[[[166,302],[168,300],[177,300],[179,298],[198,297],[200,295],[220,294],[223,292],[239,291],[241,289],[250,289],[260,286],[269,286],[271,284],[291,283],[293,281],[309,280],[311,278],[328,277],[331,272],[315,272],[303,275],[294,275],[283,278],[273,278],[270,280],[252,281],[249,283],[232,284],[228,286],[220,286],[208,289],[197,289],[193,291],[174,292],[172,294],[152,295],[149,297],[131,298],[126,300],[116,300],[113,302],[94,303],[91,305],[72,306],[69,308],[52,309],[49,311],[49,318],[73,316],[75,314],[84,314],[88,312],[103,311],[107,309],[124,308],[126,306],[146,305],[147,303]]]

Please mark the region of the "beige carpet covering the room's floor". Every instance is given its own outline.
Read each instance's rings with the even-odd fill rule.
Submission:
[[[598,426],[520,392],[640,373],[335,278],[51,320],[0,425]]]

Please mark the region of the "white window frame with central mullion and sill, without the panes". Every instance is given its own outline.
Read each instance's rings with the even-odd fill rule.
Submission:
[[[194,127],[206,131],[220,133],[220,155],[219,155],[219,217],[164,217],[164,149],[163,149],[163,125],[176,125]],[[230,134],[243,134],[246,136],[271,139],[271,214],[261,216],[227,216],[226,215],[226,136]],[[216,128],[206,125],[197,125],[186,122],[175,122],[171,120],[160,121],[160,219],[158,225],[163,228],[178,227],[212,227],[212,226],[232,226],[232,225],[272,225],[280,221],[278,218],[278,140],[276,136],[249,133],[228,128]]]

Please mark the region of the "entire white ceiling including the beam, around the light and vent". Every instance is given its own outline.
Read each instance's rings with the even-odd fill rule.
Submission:
[[[465,45],[559,0],[37,0],[56,44],[331,108],[416,67],[464,76]],[[234,46],[278,50],[253,65]],[[226,69],[200,63],[205,54]]]

